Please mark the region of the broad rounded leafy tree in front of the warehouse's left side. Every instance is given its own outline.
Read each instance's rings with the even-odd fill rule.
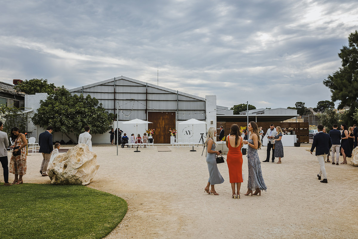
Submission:
[[[90,95],[72,96],[64,87],[41,101],[41,106],[33,116],[34,124],[43,128],[51,125],[55,132],[64,133],[72,142],[78,141],[78,135],[84,132],[84,126],[91,128],[91,134],[103,134],[110,129],[110,114]],[[69,134],[74,133],[77,140]]]

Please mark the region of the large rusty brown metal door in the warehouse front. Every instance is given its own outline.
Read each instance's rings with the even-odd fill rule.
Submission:
[[[148,112],[149,129],[155,129],[154,143],[170,143],[169,129],[175,128],[175,112]]]

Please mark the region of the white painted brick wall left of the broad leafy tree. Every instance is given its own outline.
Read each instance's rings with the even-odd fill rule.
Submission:
[[[34,125],[32,117],[37,113],[37,109],[40,107],[40,100],[47,99],[47,93],[36,93],[35,95],[25,95],[25,111],[33,110],[27,114],[27,137],[35,137],[38,139],[38,135],[43,132],[43,129],[39,128],[38,125]],[[36,140],[37,142],[37,140]]]

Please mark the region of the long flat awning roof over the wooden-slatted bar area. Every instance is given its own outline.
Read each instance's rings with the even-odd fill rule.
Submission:
[[[295,118],[299,115],[248,115],[248,121],[255,122],[277,122]],[[217,115],[218,122],[246,122],[247,115]]]

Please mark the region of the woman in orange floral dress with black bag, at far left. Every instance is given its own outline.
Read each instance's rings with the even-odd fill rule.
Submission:
[[[13,152],[20,150],[21,154],[18,156],[11,155],[10,158],[10,173],[15,175],[13,184],[22,184],[23,175],[26,174],[26,145],[27,140],[23,133],[20,133],[19,128],[14,127],[11,129],[11,138],[15,139],[14,145],[11,147],[19,146],[20,148],[14,149]]]

